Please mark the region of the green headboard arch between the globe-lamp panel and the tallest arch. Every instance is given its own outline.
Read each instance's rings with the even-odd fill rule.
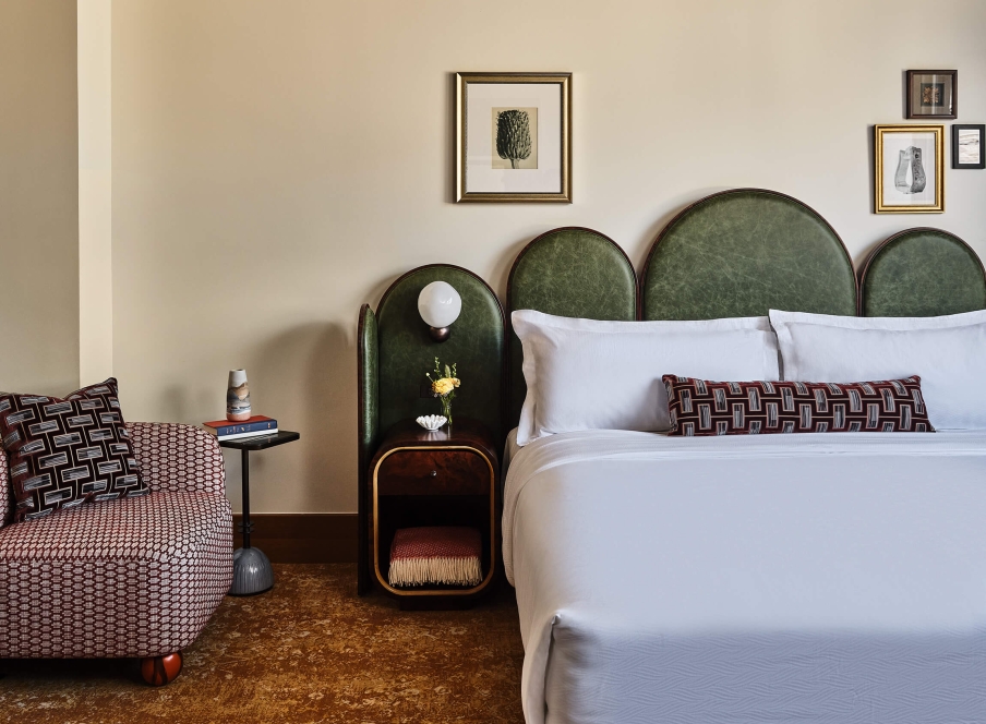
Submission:
[[[507,311],[538,310],[585,319],[637,318],[637,276],[612,239],[581,227],[553,229],[530,242],[510,269]],[[510,418],[520,420],[527,394],[524,353],[510,329]]]

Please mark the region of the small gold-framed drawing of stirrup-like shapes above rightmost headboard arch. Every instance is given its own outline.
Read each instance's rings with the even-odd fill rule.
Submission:
[[[874,212],[945,212],[945,126],[874,126]]]

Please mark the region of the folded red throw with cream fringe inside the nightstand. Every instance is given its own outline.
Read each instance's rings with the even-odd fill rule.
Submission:
[[[478,586],[482,541],[474,528],[401,528],[390,544],[390,586]]]

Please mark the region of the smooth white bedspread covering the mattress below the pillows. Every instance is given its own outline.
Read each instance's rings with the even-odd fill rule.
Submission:
[[[986,722],[986,432],[507,451],[528,722]]]

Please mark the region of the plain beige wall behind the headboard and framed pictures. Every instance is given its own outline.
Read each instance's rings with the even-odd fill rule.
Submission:
[[[986,256],[986,172],[949,171],[948,213],[909,217],[870,214],[869,170],[907,68],[958,68],[960,121],[986,121],[984,23],[979,0],[118,0],[128,415],[219,417],[244,366],[256,410],[303,435],[256,456],[254,509],[348,511],[357,311],[413,266],[503,293],[521,246],[562,225],[639,265],[675,212],[740,185],[804,200],[857,261],[925,224]],[[459,70],[575,74],[573,205],[449,203]]]

